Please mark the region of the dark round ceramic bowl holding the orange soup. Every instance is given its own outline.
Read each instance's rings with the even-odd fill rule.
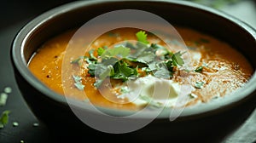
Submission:
[[[97,15],[119,9],[139,9],[159,15],[171,24],[187,26],[230,43],[253,66],[256,66],[256,31],[241,20],[196,3],[185,1],[81,1],[67,3],[39,15],[16,35],[11,49],[11,60],[16,83],[22,96],[39,120],[46,123],[57,141],[67,140],[196,140],[219,141],[239,127],[254,109],[256,98],[255,72],[245,87],[223,100],[198,108],[185,108],[170,122],[168,111],[163,111],[152,123],[126,134],[108,134],[90,128],[75,116],[67,99],[56,94],[29,71],[27,64],[38,47],[62,31],[82,26]],[[102,115],[90,108],[73,106],[86,116],[101,119]],[[79,103],[78,103],[79,104]],[[99,107],[114,116],[125,116],[123,111]],[[130,118],[136,122],[147,115]],[[109,127],[111,128],[111,127]]]

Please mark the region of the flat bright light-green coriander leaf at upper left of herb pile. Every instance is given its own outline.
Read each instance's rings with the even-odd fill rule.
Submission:
[[[129,48],[125,48],[123,46],[116,47],[113,49],[106,49],[104,53],[102,53],[102,59],[117,57],[117,58],[125,58],[129,55],[131,50]]]

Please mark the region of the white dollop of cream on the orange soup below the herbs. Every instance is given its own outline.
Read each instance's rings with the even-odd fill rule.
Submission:
[[[148,100],[143,100],[141,98],[142,96],[146,96],[148,99],[160,103],[162,106],[172,106],[172,103],[177,100],[181,85],[170,79],[148,75],[131,80],[126,85],[123,85],[122,88],[127,89],[126,91],[128,92],[120,96],[125,96],[125,98],[137,106],[146,106],[148,104]]]

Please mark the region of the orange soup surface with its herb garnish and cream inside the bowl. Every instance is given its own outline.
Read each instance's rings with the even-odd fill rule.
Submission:
[[[175,107],[180,96],[186,97],[183,106],[206,104],[241,88],[251,77],[253,68],[229,44],[189,28],[176,29],[183,41],[160,32],[165,39],[120,28],[91,44],[73,43],[75,30],[67,31],[45,42],[28,66],[59,94],[128,110]],[[67,56],[67,47],[78,45],[89,48],[73,49]],[[69,61],[65,68],[64,58]],[[66,72],[67,68],[74,72]]]

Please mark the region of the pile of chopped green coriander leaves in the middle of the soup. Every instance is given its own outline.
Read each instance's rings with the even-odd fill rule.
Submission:
[[[138,31],[136,36],[137,44],[119,43],[114,45],[113,49],[99,48],[96,53],[90,50],[89,57],[80,57],[88,63],[88,74],[96,77],[96,88],[99,88],[108,77],[122,82],[141,77],[139,70],[154,77],[170,78],[174,66],[183,66],[183,53],[173,54],[159,44],[149,44],[145,31]],[[77,62],[79,59],[73,61]],[[74,77],[74,80],[78,89],[84,89],[79,79],[76,80]]]

